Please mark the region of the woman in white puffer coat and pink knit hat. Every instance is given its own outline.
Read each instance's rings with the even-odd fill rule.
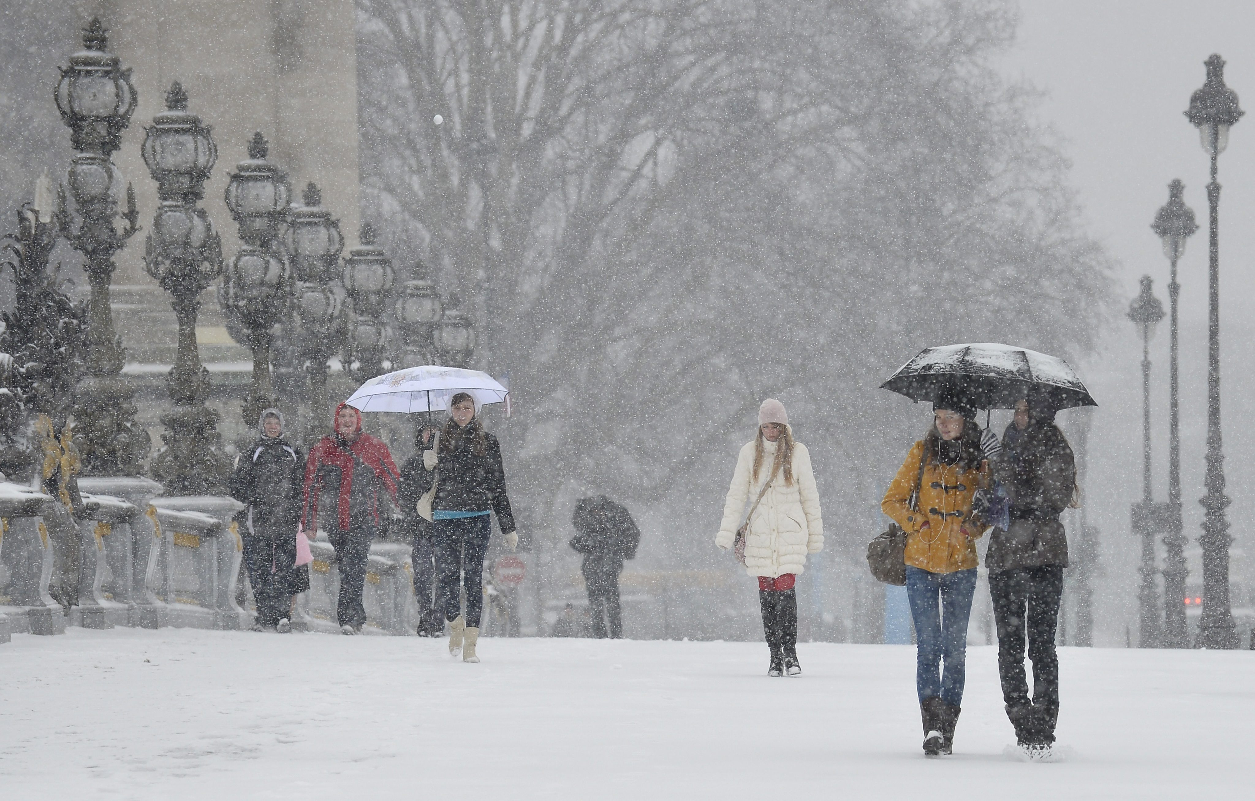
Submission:
[[[758,579],[758,605],[772,660],[767,675],[798,675],[796,576],[806,555],[823,549],[820,492],[806,446],[793,441],[784,404],[774,398],[758,409],[758,436],[740,448],[714,544],[735,545],[749,503],[745,573]]]

